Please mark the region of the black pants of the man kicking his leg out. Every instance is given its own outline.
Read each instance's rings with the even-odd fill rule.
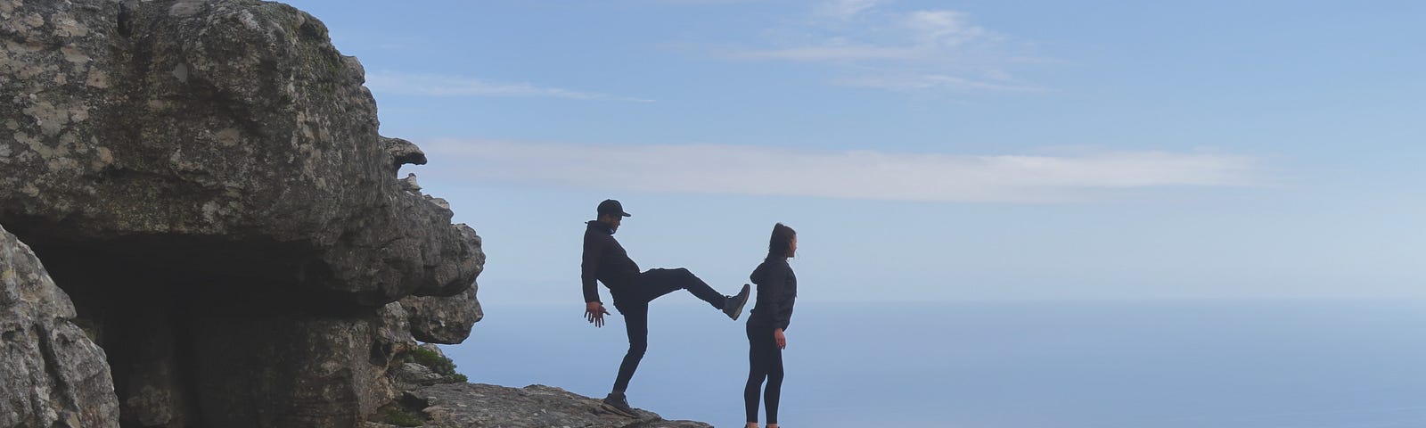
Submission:
[[[629,352],[619,364],[615,391],[623,392],[629,388],[633,371],[639,368],[643,352],[649,350],[649,302],[674,290],[687,290],[717,310],[723,310],[723,304],[727,301],[727,297],[719,294],[686,268],[649,270],[639,274],[632,284],[609,288],[609,294],[615,297],[615,308],[623,314],[625,328],[629,332]]]

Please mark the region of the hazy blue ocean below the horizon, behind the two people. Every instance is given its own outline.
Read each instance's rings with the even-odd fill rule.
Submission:
[[[609,391],[617,314],[596,330],[578,302],[482,304],[486,320],[446,348],[471,381]],[[742,321],[674,294],[650,324],[630,404],[742,427]],[[1426,427],[1426,301],[804,298],[787,338],[789,428]]]

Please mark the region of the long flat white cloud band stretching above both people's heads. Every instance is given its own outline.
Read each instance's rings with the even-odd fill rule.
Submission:
[[[422,146],[442,160],[424,167],[422,175],[438,180],[623,191],[1065,203],[1114,190],[1258,184],[1252,158],[1201,153],[957,156],[503,140]]]

